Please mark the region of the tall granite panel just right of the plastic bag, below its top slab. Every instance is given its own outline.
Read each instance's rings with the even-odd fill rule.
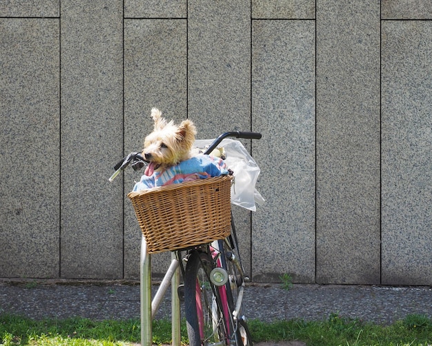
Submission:
[[[254,281],[315,282],[315,22],[253,21]],[[265,254],[265,260],[262,256]]]

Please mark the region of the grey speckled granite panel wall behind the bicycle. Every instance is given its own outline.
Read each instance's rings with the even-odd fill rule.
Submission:
[[[267,202],[235,208],[254,281],[432,285],[432,6],[2,1],[0,277],[139,275],[108,183],[150,109],[245,141]],[[155,275],[168,254],[153,256]]]

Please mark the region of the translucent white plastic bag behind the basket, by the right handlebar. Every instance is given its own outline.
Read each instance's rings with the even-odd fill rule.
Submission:
[[[195,147],[205,148],[213,143],[213,139],[195,141]],[[256,190],[259,167],[240,141],[224,139],[217,147],[224,147],[225,163],[234,172],[234,184],[231,187],[231,203],[245,209],[257,210],[255,203],[263,204],[264,198]]]

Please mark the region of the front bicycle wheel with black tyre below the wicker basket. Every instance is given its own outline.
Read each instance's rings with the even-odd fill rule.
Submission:
[[[208,252],[192,252],[184,273],[186,327],[190,346],[226,345],[229,317],[223,312],[221,289],[210,281],[215,267]]]

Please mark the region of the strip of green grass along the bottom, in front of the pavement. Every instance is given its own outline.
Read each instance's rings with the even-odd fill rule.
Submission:
[[[306,345],[432,345],[432,320],[422,315],[410,315],[393,325],[375,325],[360,320],[342,318],[337,314],[327,320],[275,321],[264,323],[250,320],[249,327],[255,342],[273,340],[302,340]],[[187,344],[186,329],[182,326],[182,343]],[[0,345],[130,345],[139,343],[139,320],[94,321],[85,318],[66,320],[31,320],[20,316],[0,314]],[[153,342],[170,343],[169,320],[153,323]]]

